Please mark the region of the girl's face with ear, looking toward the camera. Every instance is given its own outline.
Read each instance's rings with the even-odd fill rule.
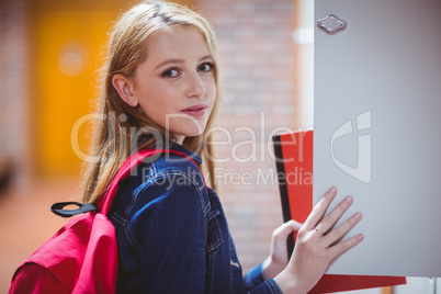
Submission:
[[[126,87],[132,98],[123,99],[132,106],[139,104],[178,143],[201,135],[216,98],[214,59],[203,35],[184,26],[154,33],[145,61]]]

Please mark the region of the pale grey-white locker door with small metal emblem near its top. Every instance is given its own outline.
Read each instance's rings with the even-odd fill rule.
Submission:
[[[328,273],[441,276],[441,1],[316,0],[319,20],[314,199],[352,195],[365,236]]]

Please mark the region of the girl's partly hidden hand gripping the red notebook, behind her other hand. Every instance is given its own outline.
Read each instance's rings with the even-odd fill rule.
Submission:
[[[293,231],[298,231],[302,224],[293,219],[284,223],[272,233],[270,256],[263,261],[264,280],[272,279],[286,268],[289,257],[286,239]]]

